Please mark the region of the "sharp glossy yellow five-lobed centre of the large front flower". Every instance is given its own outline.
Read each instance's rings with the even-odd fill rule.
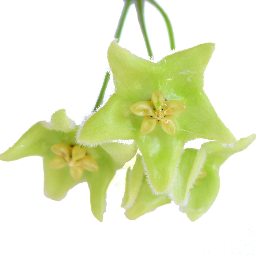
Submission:
[[[130,107],[132,113],[144,116],[140,132],[147,135],[155,125],[161,124],[163,130],[170,134],[177,133],[177,126],[172,116],[183,113],[186,105],[177,100],[167,101],[161,91],[154,91],[150,101],[139,101]]]

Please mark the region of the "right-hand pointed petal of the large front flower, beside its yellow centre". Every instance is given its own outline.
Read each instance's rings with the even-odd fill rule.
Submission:
[[[182,102],[186,104],[187,109],[173,118],[187,140],[205,138],[227,144],[236,142],[236,138],[219,119],[203,91],[188,88],[184,90],[183,95]]]

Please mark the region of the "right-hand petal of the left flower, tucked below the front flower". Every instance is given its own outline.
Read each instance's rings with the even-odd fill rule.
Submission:
[[[113,142],[113,143],[102,144],[101,147],[113,159],[116,170],[122,168],[126,162],[130,161],[135,156],[138,150],[135,143],[127,145],[127,144]]]

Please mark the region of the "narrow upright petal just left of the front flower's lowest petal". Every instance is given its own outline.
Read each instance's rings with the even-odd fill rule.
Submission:
[[[138,196],[143,176],[144,168],[142,166],[142,157],[137,155],[135,165],[132,169],[129,167],[126,172],[125,191],[121,207],[128,209],[132,206]]]

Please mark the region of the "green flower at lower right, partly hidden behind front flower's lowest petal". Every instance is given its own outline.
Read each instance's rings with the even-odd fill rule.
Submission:
[[[127,170],[122,207],[128,219],[136,219],[172,199],[180,205],[191,221],[196,221],[214,203],[220,186],[219,169],[231,155],[244,150],[256,139],[256,134],[240,139],[234,147],[223,148],[217,141],[207,142],[197,150],[186,148],[179,164],[179,175],[167,195],[154,195],[143,175],[143,164],[136,159]],[[171,199],[170,199],[171,198]]]

